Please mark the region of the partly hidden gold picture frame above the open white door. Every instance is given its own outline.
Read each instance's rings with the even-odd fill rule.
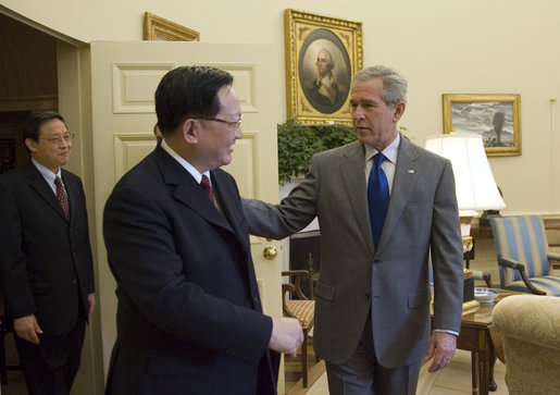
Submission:
[[[148,41],[200,41],[200,33],[145,12],[144,39]]]

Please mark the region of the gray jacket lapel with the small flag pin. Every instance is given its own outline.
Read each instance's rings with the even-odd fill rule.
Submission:
[[[387,217],[383,226],[379,245],[382,248],[384,243],[390,238],[397,223],[407,206],[412,192],[415,188],[419,178],[419,166],[415,163],[418,153],[414,146],[406,138],[400,139],[399,155],[397,159],[397,168],[395,169],[395,178],[393,181],[393,189],[390,193],[389,207]]]

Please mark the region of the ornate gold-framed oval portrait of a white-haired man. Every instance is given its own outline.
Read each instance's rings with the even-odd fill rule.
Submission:
[[[363,67],[362,23],[287,9],[284,32],[288,119],[351,124],[348,97],[352,75]],[[325,67],[329,76],[322,83]]]

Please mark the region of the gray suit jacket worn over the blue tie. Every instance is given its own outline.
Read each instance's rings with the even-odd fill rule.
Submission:
[[[386,368],[427,350],[430,270],[434,328],[459,332],[462,243],[451,163],[405,138],[377,250],[369,220],[365,150],[354,141],[313,157],[309,174],[279,205],[244,199],[251,234],[283,238],[315,217],[321,227],[314,348],[333,363],[353,354],[372,311],[376,358]]]

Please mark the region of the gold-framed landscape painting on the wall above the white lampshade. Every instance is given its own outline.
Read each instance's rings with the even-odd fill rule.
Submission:
[[[444,133],[481,134],[488,157],[521,155],[520,95],[444,95]]]

